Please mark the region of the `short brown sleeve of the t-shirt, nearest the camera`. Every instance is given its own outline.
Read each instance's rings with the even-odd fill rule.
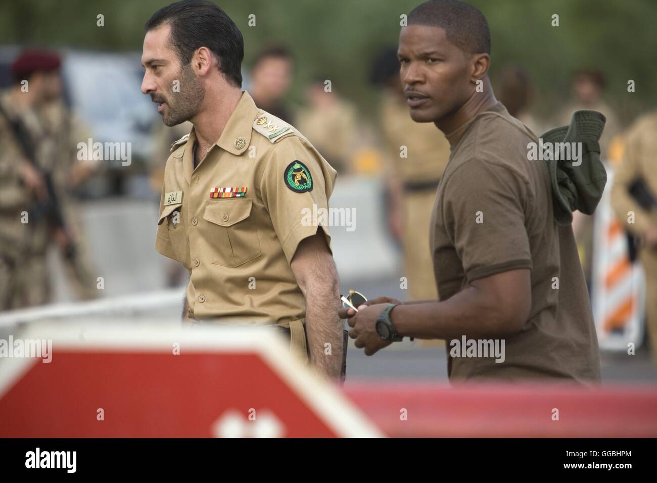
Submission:
[[[528,193],[508,168],[470,160],[446,180],[443,220],[468,283],[509,270],[532,269],[525,225]]]

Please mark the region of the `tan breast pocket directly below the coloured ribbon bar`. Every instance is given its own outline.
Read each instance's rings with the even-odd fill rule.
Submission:
[[[237,267],[260,256],[256,218],[251,198],[219,198],[206,204],[205,241],[215,265]]]

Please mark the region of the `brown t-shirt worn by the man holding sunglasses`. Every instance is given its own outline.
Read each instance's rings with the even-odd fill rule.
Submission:
[[[522,330],[505,338],[501,363],[464,353],[451,357],[448,341],[450,379],[599,381],[597,336],[575,239],[570,226],[556,225],[543,162],[528,160],[535,137],[500,103],[459,132],[432,214],[440,300],[474,280],[526,268],[532,271],[532,310]]]

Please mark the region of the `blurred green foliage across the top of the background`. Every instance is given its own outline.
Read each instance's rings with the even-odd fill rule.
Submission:
[[[76,49],[139,51],[143,25],[161,0],[22,0],[0,7],[0,43]],[[290,93],[303,99],[313,76],[369,111],[376,93],[367,83],[372,57],[396,45],[399,16],[419,0],[225,0],[245,41],[246,66],[271,43],[287,45],[297,60]],[[491,26],[492,68],[523,66],[537,85],[534,110],[544,116],[567,99],[572,72],[602,69],[606,97],[626,122],[657,105],[657,2],[655,0],[472,0]],[[96,26],[104,14],[104,27]],[[256,26],[248,26],[248,15]],[[560,26],[551,26],[553,14]],[[627,93],[634,80],[636,92]]]

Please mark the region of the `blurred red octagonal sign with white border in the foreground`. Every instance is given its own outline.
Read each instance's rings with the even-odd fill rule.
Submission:
[[[271,329],[33,324],[0,364],[0,437],[376,437]]]

